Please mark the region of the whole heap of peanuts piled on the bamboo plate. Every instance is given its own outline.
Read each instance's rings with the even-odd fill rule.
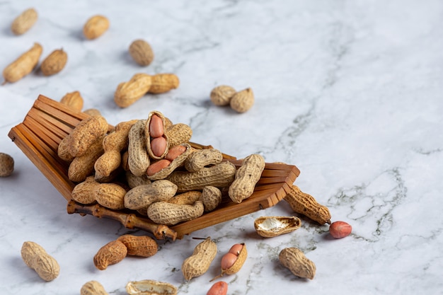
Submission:
[[[93,115],[62,139],[57,154],[69,162],[74,201],[134,210],[171,226],[216,209],[223,190],[232,202],[251,197],[265,168],[263,156],[251,154],[237,169],[217,149],[192,148],[191,137],[188,125],[156,110],[111,130]]]

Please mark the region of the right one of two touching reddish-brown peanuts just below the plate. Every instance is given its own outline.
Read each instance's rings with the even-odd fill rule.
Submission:
[[[117,241],[125,244],[127,255],[131,256],[151,257],[159,250],[157,242],[149,236],[134,236],[127,234],[117,238]]]

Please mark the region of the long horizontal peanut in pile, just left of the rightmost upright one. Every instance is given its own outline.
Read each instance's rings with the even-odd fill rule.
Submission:
[[[197,172],[174,171],[168,180],[178,186],[178,192],[202,190],[208,185],[227,187],[234,181],[236,166],[230,162],[222,162],[212,167],[205,167]]]

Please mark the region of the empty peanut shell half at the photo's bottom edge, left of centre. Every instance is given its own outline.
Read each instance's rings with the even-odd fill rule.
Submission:
[[[177,288],[172,284],[158,282],[152,279],[128,282],[126,284],[127,294],[130,295],[176,295]]]

